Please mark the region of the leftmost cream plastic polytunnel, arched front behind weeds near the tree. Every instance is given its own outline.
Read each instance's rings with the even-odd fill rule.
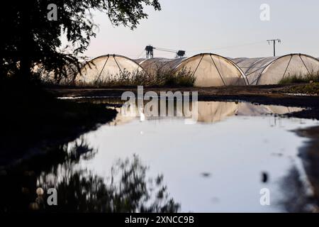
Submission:
[[[119,79],[122,76],[131,77],[142,72],[142,67],[137,62],[122,55],[102,55],[86,62],[77,75],[77,83],[95,84]]]

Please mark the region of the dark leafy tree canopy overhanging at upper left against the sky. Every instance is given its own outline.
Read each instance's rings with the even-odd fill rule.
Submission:
[[[49,4],[57,6],[57,20],[49,21]],[[57,79],[66,74],[66,65],[79,67],[77,55],[86,50],[96,35],[92,11],[102,11],[115,26],[134,29],[147,18],[144,6],[160,10],[158,0],[28,0],[4,1],[0,13],[0,74],[18,74],[30,79],[31,68],[42,65],[54,71]],[[72,52],[62,48],[61,35],[66,35]]]

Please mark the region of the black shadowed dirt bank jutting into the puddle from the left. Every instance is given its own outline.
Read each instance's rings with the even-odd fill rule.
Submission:
[[[57,99],[6,99],[1,112],[0,170],[107,123],[117,111]],[[94,116],[94,117],[92,117]]]

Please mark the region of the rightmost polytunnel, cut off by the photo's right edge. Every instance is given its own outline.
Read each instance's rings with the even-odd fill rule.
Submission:
[[[319,60],[303,54],[281,57],[235,58],[232,59],[251,85],[279,84],[285,77],[305,77],[319,71]]]

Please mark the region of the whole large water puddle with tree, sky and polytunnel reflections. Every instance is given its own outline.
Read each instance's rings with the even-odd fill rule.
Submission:
[[[292,131],[318,121],[282,116],[301,108],[200,101],[198,123],[188,125],[183,117],[123,116],[115,99],[91,101],[120,113],[69,143],[67,161],[42,171],[36,187],[77,192],[75,204],[101,211],[284,212],[296,194],[312,193],[298,157],[306,139]]]

